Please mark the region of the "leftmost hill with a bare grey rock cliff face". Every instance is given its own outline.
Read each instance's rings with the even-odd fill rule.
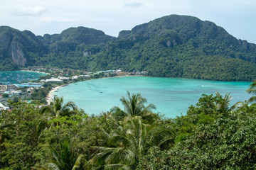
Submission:
[[[0,59],[24,67],[33,63],[33,57],[43,53],[44,46],[28,30],[0,27]],[[1,62],[1,61],[0,61]]]

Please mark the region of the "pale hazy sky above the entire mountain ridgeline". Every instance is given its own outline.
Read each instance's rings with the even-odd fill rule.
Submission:
[[[0,14],[0,26],[36,35],[85,26],[115,37],[162,16],[196,16],[256,43],[255,0],[6,0],[1,1]]]

